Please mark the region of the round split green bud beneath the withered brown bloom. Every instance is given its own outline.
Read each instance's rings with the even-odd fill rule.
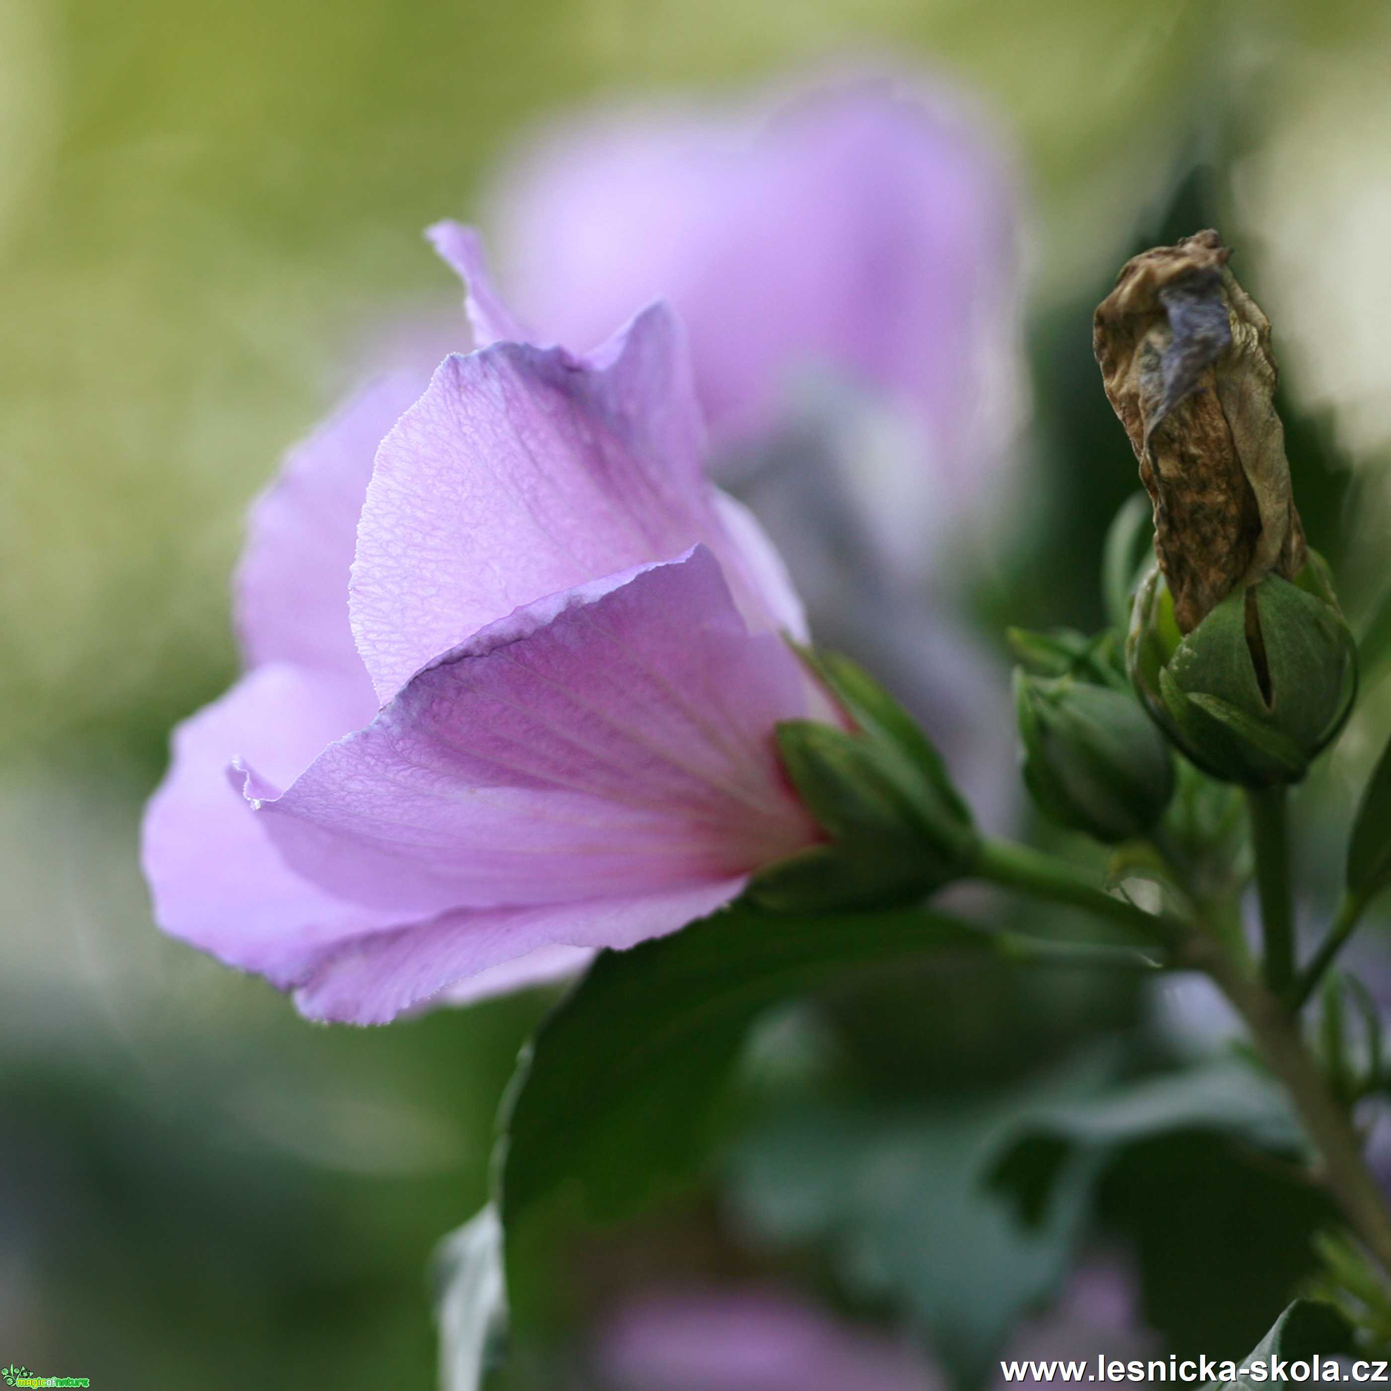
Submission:
[[[1298,782],[1356,696],[1356,644],[1327,568],[1310,552],[1294,581],[1238,584],[1187,636],[1153,570],[1125,647],[1146,711],[1199,768],[1246,787]]]

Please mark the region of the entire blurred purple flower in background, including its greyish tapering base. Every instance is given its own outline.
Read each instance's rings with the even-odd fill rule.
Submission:
[[[716,469],[812,632],[904,700],[997,829],[1006,686],[954,606],[1025,403],[1010,166],[931,79],[801,83],[568,117],[501,172],[492,218],[544,341],[676,306]]]

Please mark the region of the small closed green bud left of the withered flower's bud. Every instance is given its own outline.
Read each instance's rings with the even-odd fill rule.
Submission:
[[[1024,782],[1053,821],[1114,844],[1143,835],[1174,794],[1163,734],[1125,694],[1014,673]]]

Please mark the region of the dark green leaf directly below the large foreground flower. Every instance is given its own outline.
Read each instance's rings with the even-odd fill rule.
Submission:
[[[919,908],[778,914],[747,900],[683,932],[605,951],[538,1031],[505,1117],[502,1220],[566,1191],[591,1219],[640,1210],[700,1164],[753,1021],[860,965],[993,951]]]

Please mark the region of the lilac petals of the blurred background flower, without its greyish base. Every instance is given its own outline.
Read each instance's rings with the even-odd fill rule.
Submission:
[[[593,342],[665,296],[719,444],[773,433],[825,367],[921,430],[942,494],[979,494],[1015,423],[1011,191],[954,99],[897,86],[566,121],[498,195],[522,317]]]

